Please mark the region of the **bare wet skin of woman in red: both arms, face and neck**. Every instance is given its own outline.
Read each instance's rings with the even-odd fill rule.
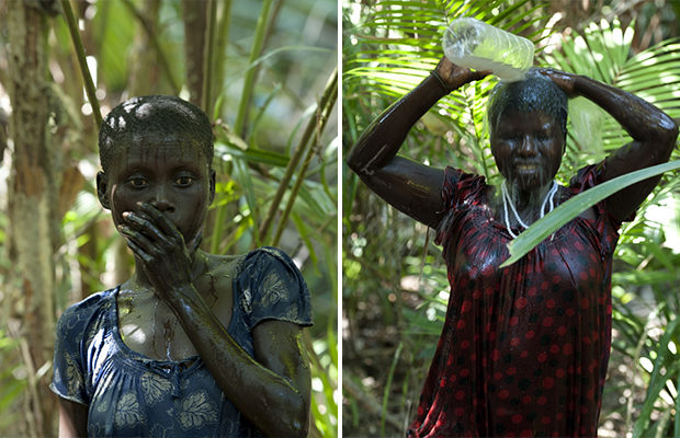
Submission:
[[[441,81],[433,76],[426,78],[385,110],[362,134],[348,159],[350,169],[373,192],[432,228],[439,226],[444,210],[441,197],[444,171],[400,157],[397,152],[410,128],[437,101],[452,90],[486,76],[486,72],[457,67],[446,58],[442,58],[435,71]],[[604,181],[664,163],[670,158],[678,126],[664,112],[639,97],[587,77],[552,69],[541,69],[540,73],[556,83],[567,96],[580,95],[598,104],[633,138],[632,142],[607,158]],[[545,115],[508,113],[499,117],[498,126],[494,128],[494,155],[500,172],[509,180],[510,192],[520,200],[522,217],[528,214],[522,211],[522,204],[531,205],[528,199],[543,198],[559,168],[564,138],[555,125]],[[422,161],[422,157],[417,159]],[[532,163],[545,166],[541,175]],[[645,180],[610,196],[607,199],[608,210],[615,219],[624,220],[637,209],[658,181],[659,177]],[[591,218],[592,211],[587,210],[581,216]]]

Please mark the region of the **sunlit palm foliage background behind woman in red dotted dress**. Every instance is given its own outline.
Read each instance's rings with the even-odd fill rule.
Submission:
[[[680,3],[675,1],[342,0],[342,147],[442,56],[449,21],[468,15],[536,43],[535,65],[631,91],[680,122]],[[401,153],[495,183],[484,123],[496,79],[442,99]],[[557,180],[630,141],[609,115],[570,102]],[[671,160],[679,160],[676,149]],[[404,436],[442,328],[449,284],[433,233],[388,207],[343,165],[343,435]],[[680,436],[680,174],[667,173],[622,228],[613,274],[613,348],[601,437]],[[428,234],[429,233],[429,234]],[[657,435],[658,434],[658,435]]]

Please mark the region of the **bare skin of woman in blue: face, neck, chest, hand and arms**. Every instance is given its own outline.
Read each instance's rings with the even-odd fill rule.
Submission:
[[[100,201],[135,257],[135,275],[118,295],[125,343],[160,360],[200,355],[225,395],[265,436],[306,436],[310,376],[302,328],[261,322],[252,333],[254,359],[225,328],[239,257],[197,250],[215,194],[215,174],[201,150],[172,138],[133,145],[97,182]],[[60,430],[82,435],[87,406],[60,401]]]

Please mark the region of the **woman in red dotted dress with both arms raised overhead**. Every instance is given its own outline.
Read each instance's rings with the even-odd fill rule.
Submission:
[[[658,182],[630,186],[581,212],[518,263],[506,244],[566,199],[666,162],[678,136],[647,102],[549,69],[500,82],[489,101],[491,152],[505,182],[431,168],[397,152],[439,99],[485,72],[445,58],[362,135],[348,163],[392,206],[437,230],[451,298],[409,436],[594,436],[611,342],[611,266],[621,222]],[[585,96],[633,141],[554,182],[567,101]]]

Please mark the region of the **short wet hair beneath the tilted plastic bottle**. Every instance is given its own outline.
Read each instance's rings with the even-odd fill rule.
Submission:
[[[526,77],[517,82],[499,82],[491,92],[487,106],[490,132],[494,132],[500,116],[508,110],[521,113],[542,112],[553,117],[567,138],[567,94],[549,78],[530,69]]]

